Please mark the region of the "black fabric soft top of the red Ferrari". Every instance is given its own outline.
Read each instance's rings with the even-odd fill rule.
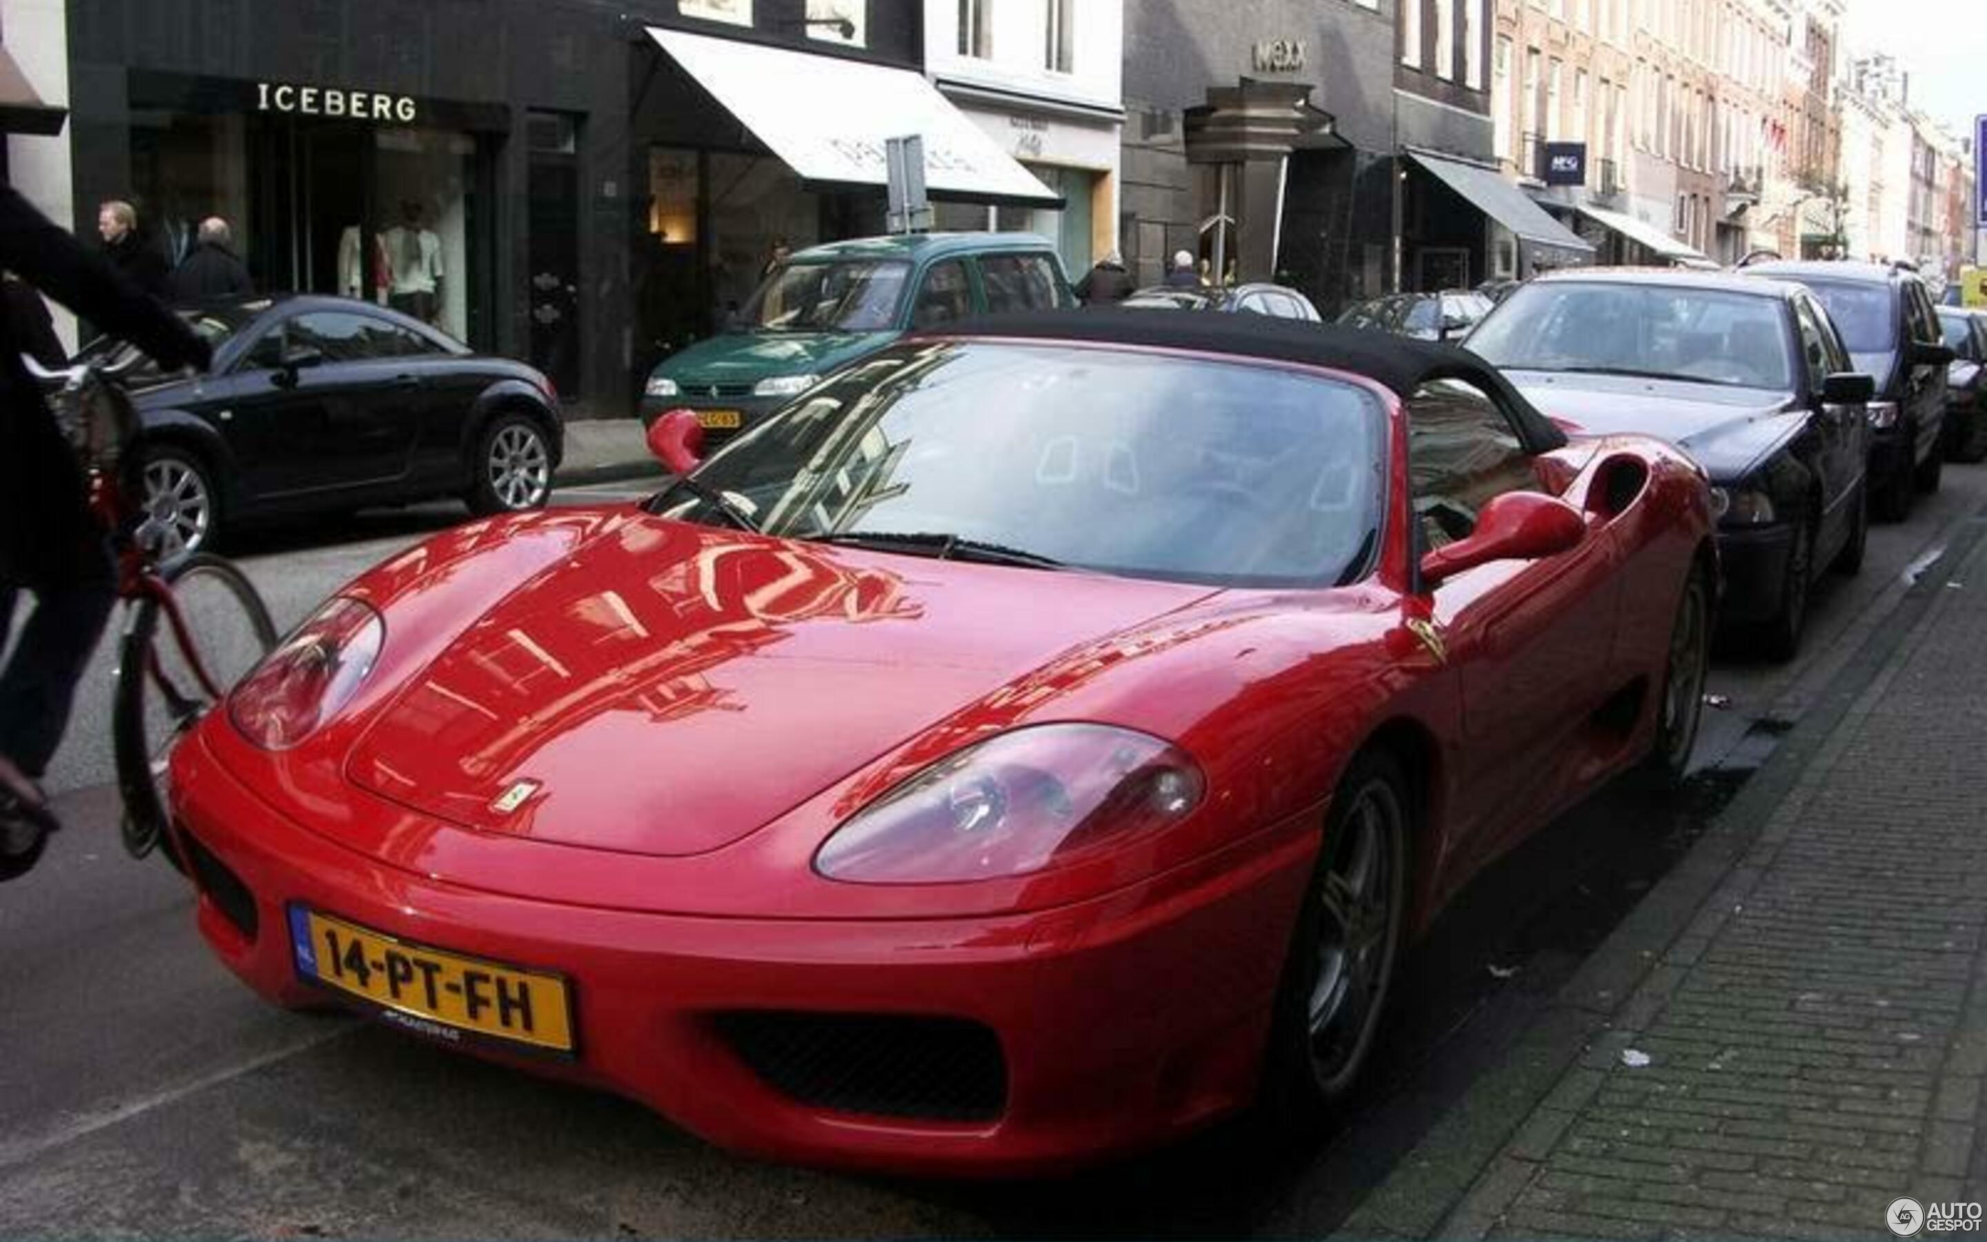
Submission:
[[[1067,340],[1296,362],[1365,376],[1393,389],[1401,399],[1415,395],[1415,389],[1433,380],[1462,380],[1484,389],[1510,411],[1528,451],[1544,453],[1566,443],[1566,433],[1476,354],[1365,328],[1278,320],[1260,314],[1089,308],[990,314],[922,330],[918,336]]]

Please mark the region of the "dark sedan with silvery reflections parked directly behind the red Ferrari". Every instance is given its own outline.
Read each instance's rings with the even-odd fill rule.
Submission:
[[[1800,646],[1808,586],[1862,566],[1872,395],[1806,288],[1719,272],[1538,276],[1464,346],[1590,433],[1675,441],[1711,477],[1721,622]]]

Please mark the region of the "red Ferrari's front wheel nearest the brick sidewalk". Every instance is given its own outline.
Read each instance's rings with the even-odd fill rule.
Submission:
[[[1387,751],[1355,757],[1331,799],[1264,1055],[1260,1107],[1278,1131],[1323,1123],[1373,1051],[1399,964],[1417,805]]]

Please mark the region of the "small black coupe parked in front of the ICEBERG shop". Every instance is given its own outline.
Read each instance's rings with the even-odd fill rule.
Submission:
[[[143,499],[169,552],[260,517],[431,497],[473,513],[544,505],[564,425],[552,382],[533,368],[350,298],[183,314],[215,346],[213,370],[129,376]],[[81,358],[125,350],[97,340]]]

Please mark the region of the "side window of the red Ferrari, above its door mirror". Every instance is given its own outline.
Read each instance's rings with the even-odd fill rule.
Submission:
[[[1482,389],[1439,380],[1407,403],[1407,473],[1431,548],[1476,531],[1476,515],[1508,491],[1538,491],[1532,459]]]

